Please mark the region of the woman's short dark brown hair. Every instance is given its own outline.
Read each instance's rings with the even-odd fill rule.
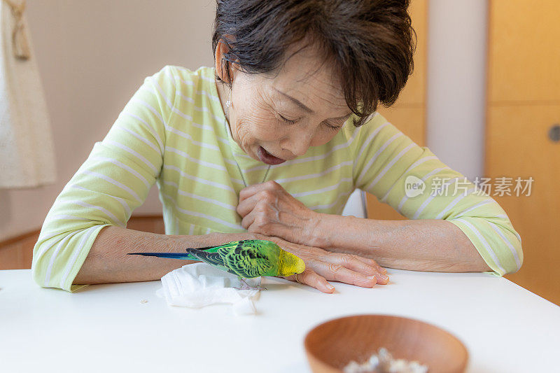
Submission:
[[[222,61],[246,73],[274,73],[299,41],[334,63],[344,98],[363,125],[378,102],[395,103],[412,74],[416,32],[409,0],[217,0],[212,50],[228,45]],[[414,40],[412,35],[414,34]],[[230,83],[231,84],[231,83]]]

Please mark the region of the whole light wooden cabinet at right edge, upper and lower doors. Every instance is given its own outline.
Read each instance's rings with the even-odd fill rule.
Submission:
[[[493,196],[524,251],[521,270],[506,277],[560,304],[560,141],[549,136],[560,125],[560,2],[489,7],[485,176],[533,178],[531,195]]]

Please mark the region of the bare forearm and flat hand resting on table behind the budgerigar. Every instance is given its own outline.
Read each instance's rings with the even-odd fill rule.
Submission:
[[[247,233],[172,236],[109,226],[104,227],[97,235],[90,253],[74,279],[74,284],[158,280],[167,272],[194,261],[141,257],[127,255],[127,253],[142,251],[180,253],[186,247],[218,246],[241,239],[275,241],[284,250],[300,256],[305,262],[306,269],[298,276],[298,281],[313,286],[323,293],[332,293],[335,290],[328,281],[341,281],[366,288],[388,281],[386,271],[374,260],[293,244],[277,237]],[[294,281],[295,276],[286,279]]]

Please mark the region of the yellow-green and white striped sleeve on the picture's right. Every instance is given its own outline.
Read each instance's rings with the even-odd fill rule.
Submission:
[[[362,129],[355,146],[356,188],[409,219],[444,219],[458,226],[491,267],[490,273],[502,276],[521,267],[521,237],[493,198],[382,115]]]

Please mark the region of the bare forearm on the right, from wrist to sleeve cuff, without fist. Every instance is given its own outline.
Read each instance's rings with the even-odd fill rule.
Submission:
[[[317,222],[309,244],[374,258],[384,267],[437,272],[491,271],[470,239],[447,220],[373,220],[321,214]]]

